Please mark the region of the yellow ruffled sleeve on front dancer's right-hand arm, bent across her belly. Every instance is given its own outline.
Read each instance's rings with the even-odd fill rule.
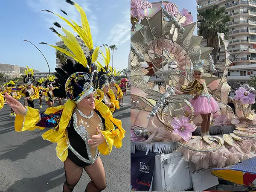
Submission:
[[[122,122],[113,118],[109,108],[97,99],[95,101],[95,108],[105,119],[106,127],[105,131],[101,131],[106,142],[99,145],[98,149],[101,154],[107,155],[111,153],[113,145],[116,148],[121,148],[122,139],[125,137],[126,131],[122,128]]]

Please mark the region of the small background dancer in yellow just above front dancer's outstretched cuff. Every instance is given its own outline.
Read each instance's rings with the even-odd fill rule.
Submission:
[[[28,66],[26,67],[27,69],[24,70],[25,77],[23,78],[23,82],[26,85],[22,88],[19,87],[21,88],[19,94],[25,97],[24,105],[34,108],[34,99],[39,98],[39,91],[35,86],[33,86],[33,83],[35,81],[33,69],[29,69]]]

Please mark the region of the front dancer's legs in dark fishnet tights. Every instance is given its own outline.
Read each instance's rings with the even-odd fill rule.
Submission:
[[[106,175],[100,157],[95,163],[89,166],[79,167],[69,158],[64,161],[66,181],[63,185],[63,192],[73,192],[79,182],[83,169],[89,175],[91,181],[87,184],[85,192],[101,192],[106,188]]]

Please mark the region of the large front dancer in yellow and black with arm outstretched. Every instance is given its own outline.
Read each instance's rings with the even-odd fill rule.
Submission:
[[[83,9],[72,1],[68,2],[80,12],[82,25],[80,27],[75,22],[65,21],[79,34],[91,53],[91,57],[86,58],[75,35],[62,28],[59,23],[54,23],[66,34],[63,36],[54,29],[70,51],[51,46],[76,60],[73,63],[68,59],[61,68],[55,68],[58,89],[54,89],[53,93],[58,97],[67,96],[69,100],[64,105],[47,108],[44,113],[24,107],[7,93],[6,103],[17,113],[16,131],[53,128],[42,137],[57,143],[56,154],[64,162],[66,175],[63,192],[73,191],[83,169],[91,179],[85,191],[100,192],[106,188],[106,177],[99,153],[110,154],[113,145],[120,148],[125,131],[122,122],[113,118],[108,107],[94,98],[96,67],[93,63],[98,58],[99,47],[93,50],[90,27]]]

